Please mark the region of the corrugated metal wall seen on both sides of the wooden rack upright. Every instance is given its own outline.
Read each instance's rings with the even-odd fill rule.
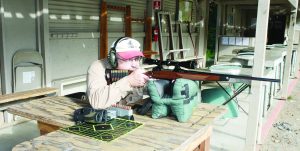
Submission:
[[[50,32],[97,32],[101,0],[49,0]],[[107,5],[131,6],[131,16],[143,19],[146,0],[109,0]],[[120,20],[121,21],[118,21]],[[124,32],[124,13],[108,9],[108,31]],[[143,32],[144,24],[133,22],[133,32]]]

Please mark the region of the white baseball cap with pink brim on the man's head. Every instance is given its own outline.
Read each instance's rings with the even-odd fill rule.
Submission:
[[[114,43],[112,44],[112,47],[115,45]],[[121,59],[128,60],[134,57],[144,57],[140,46],[141,45],[137,40],[124,37],[118,41],[115,50]]]

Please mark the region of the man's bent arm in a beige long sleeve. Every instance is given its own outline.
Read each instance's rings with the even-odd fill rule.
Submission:
[[[126,97],[132,87],[128,82],[128,76],[107,85],[105,79],[105,61],[94,62],[89,70],[87,77],[87,94],[91,106],[95,109],[106,108],[119,102]]]

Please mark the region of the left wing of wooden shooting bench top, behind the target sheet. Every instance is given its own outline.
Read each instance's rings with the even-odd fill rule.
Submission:
[[[17,104],[7,109],[8,112],[47,124],[66,127],[74,125],[73,112],[89,106],[88,102],[68,97],[44,97],[26,103]]]

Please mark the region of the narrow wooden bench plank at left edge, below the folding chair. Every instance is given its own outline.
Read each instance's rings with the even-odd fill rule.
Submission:
[[[9,114],[6,109],[14,104],[22,103],[30,99],[42,97],[45,95],[55,94],[56,88],[39,88],[23,92],[0,95],[0,125],[1,127],[8,126],[14,121],[13,115]],[[2,125],[1,123],[5,123]],[[15,123],[16,124],[16,123]]]

